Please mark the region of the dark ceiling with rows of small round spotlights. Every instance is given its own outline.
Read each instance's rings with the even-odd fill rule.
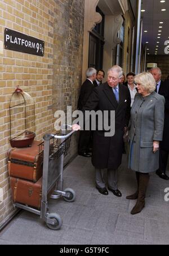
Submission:
[[[131,4],[135,12],[136,0],[131,0]],[[143,44],[149,42],[147,52],[155,54],[155,49],[158,49],[157,54],[165,54],[164,42],[169,40],[169,1],[161,3],[161,0],[142,0],[141,9],[145,10],[141,13],[141,17],[143,19]],[[166,9],[166,11],[161,11],[162,9]],[[159,22],[163,22],[163,24]],[[159,35],[160,39],[157,38],[158,34],[161,34]],[[156,47],[157,45],[159,47]]]

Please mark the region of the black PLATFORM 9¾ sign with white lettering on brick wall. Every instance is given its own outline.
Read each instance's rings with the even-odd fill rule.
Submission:
[[[45,42],[14,30],[5,29],[4,45],[7,50],[44,56]]]

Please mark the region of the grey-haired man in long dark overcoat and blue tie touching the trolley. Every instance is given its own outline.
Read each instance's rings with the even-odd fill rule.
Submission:
[[[96,188],[101,194],[108,195],[104,180],[104,170],[108,169],[108,189],[117,197],[121,197],[118,190],[117,169],[122,162],[124,127],[130,120],[130,91],[120,85],[123,71],[119,66],[113,66],[108,71],[108,82],[97,87],[88,99],[84,110],[104,110],[115,112],[115,134],[105,136],[105,131],[98,127],[94,131],[94,147],[92,164],[96,170]]]

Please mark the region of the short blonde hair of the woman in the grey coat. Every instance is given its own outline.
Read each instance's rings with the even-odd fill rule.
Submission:
[[[155,91],[156,83],[152,74],[148,72],[141,73],[135,76],[135,82],[141,84],[148,93]]]

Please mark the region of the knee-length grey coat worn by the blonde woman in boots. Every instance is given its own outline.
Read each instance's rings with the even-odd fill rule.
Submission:
[[[164,104],[164,97],[155,92],[135,96],[129,125],[129,167],[135,172],[151,173],[159,168],[159,151],[153,152],[153,142],[163,139]]]

